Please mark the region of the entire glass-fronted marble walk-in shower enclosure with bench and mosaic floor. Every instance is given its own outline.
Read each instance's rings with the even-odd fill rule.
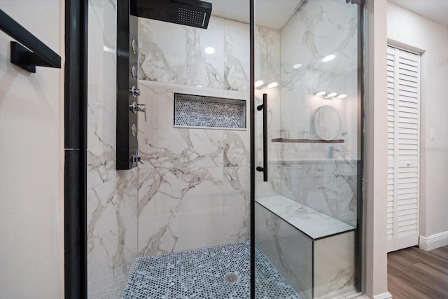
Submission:
[[[139,17],[121,52],[125,1],[89,1],[88,296],[353,298],[362,1],[205,1],[207,29],[204,18],[197,27]],[[200,1],[145,2],[155,3]],[[125,76],[139,94],[129,86],[125,96],[146,110],[125,131],[145,163],[123,170],[113,128],[127,47]]]

